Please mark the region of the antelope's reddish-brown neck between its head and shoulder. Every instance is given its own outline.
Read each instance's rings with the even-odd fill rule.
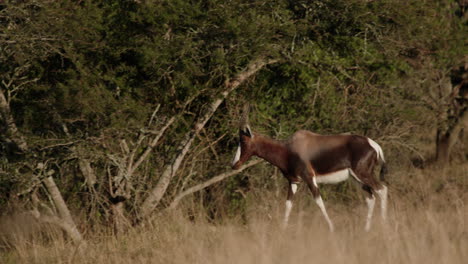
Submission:
[[[287,170],[288,149],[285,143],[256,135],[255,155],[268,161],[282,171]]]

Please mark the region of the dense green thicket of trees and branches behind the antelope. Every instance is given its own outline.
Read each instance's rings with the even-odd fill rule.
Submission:
[[[83,226],[157,217],[230,175],[247,102],[253,130],[271,137],[350,132],[394,166],[466,161],[466,7],[5,1],[1,214],[30,211],[76,240]],[[242,215],[251,188],[282,184],[268,165],[251,170],[185,198],[214,221]]]

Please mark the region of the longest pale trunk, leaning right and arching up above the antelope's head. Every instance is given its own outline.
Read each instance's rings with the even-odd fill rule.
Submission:
[[[140,219],[147,218],[153,210],[158,206],[159,202],[161,201],[162,197],[164,196],[171,179],[176,174],[177,170],[180,167],[180,164],[187,155],[190,147],[197,135],[197,133],[203,129],[205,124],[210,120],[211,116],[216,112],[218,107],[221,103],[226,99],[226,97],[234,91],[239,85],[241,85],[247,78],[251,77],[255,73],[257,73],[260,69],[262,69],[265,65],[272,64],[277,62],[277,60],[273,59],[258,59],[253,61],[251,64],[247,66],[247,68],[237,74],[234,78],[227,80],[225,83],[224,90],[221,92],[220,96],[215,99],[211,105],[206,110],[205,114],[199,117],[197,122],[195,123],[194,128],[187,132],[184,137],[184,140],[179,144],[177,148],[177,156],[175,159],[166,166],[164,169],[161,177],[159,178],[158,183],[156,186],[150,191],[148,197],[143,202],[141,209],[140,209]]]

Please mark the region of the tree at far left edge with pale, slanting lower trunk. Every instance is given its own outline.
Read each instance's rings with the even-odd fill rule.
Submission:
[[[18,130],[11,108],[16,96],[21,96],[39,81],[40,78],[35,72],[37,70],[35,62],[54,53],[50,50],[50,46],[56,39],[34,24],[34,19],[40,13],[36,10],[41,8],[40,5],[28,2],[0,6],[2,19],[0,26],[3,32],[0,34],[0,43],[2,43],[0,61],[3,65],[0,73],[0,124],[2,125],[0,136],[6,143],[3,153],[7,159],[19,155],[19,158],[13,158],[13,160],[19,159],[18,164],[33,164],[32,177],[27,179],[25,186],[21,187],[23,191],[18,194],[32,197],[32,215],[41,222],[60,226],[74,242],[82,243],[83,237],[53,178],[54,170],[49,170],[43,162],[26,160],[31,159],[33,156],[31,152],[34,150],[25,140],[23,133]],[[14,153],[12,149],[15,150]],[[34,168],[36,163],[37,169]],[[41,185],[50,197],[51,206],[37,195],[36,191]]]

